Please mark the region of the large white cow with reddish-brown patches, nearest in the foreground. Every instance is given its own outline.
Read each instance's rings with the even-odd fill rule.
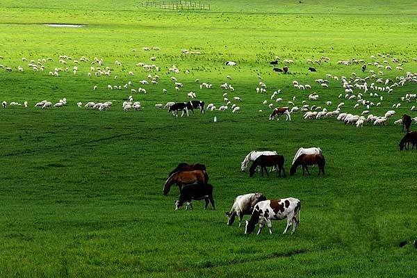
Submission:
[[[300,208],[301,202],[295,198],[261,201],[256,204],[250,220],[246,220],[245,234],[252,234],[256,224],[259,224],[257,234],[261,234],[265,224],[267,224],[270,234],[272,234],[271,220],[283,219],[287,220],[287,224],[282,234],[286,234],[291,225],[293,225],[291,234],[294,234],[300,224]]]

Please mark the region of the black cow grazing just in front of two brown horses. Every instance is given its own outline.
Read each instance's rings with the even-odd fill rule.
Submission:
[[[211,184],[191,184],[190,186],[183,186],[181,192],[179,193],[179,199],[175,201],[175,210],[181,209],[183,204],[186,202],[186,210],[188,207],[193,209],[191,201],[193,200],[202,200],[206,201],[204,209],[207,208],[208,203],[211,203],[211,207],[214,208],[214,199],[213,199],[213,186]]]

